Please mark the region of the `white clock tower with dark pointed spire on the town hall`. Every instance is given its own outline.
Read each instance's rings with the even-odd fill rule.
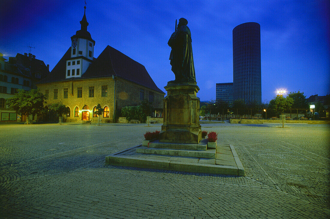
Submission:
[[[71,37],[71,57],[66,63],[66,78],[81,77],[93,62],[95,41],[87,31],[86,6],[80,24],[80,30]]]

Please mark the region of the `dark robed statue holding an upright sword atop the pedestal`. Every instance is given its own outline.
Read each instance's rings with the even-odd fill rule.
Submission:
[[[172,83],[196,83],[194,60],[191,49],[191,33],[187,27],[188,21],[179,19],[178,29],[172,34],[168,45],[172,48],[170,64],[175,75]]]

